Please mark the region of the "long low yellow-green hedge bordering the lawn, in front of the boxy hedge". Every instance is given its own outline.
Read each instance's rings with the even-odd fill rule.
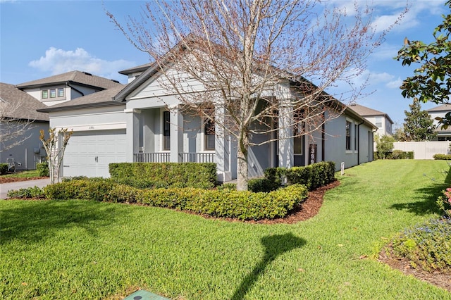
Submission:
[[[127,202],[215,217],[261,220],[284,217],[307,198],[308,191],[303,185],[292,185],[269,193],[194,187],[138,189],[109,179],[96,179],[48,185],[44,188],[44,194],[49,199]]]

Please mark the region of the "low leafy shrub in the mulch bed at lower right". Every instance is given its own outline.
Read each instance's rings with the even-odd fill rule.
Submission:
[[[412,268],[450,273],[450,241],[451,218],[442,218],[404,230],[392,245],[394,253],[407,258]]]

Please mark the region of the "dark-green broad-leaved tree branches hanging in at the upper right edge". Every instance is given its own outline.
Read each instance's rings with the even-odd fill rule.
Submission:
[[[451,0],[445,6],[451,8]],[[418,98],[426,103],[449,104],[451,94],[451,15],[443,15],[443,23],[435,27],[431,44],[421,41],[404,40],[404,46],[396,57],[402,65],[419,65],[414,76],[407,77],[400,87],[404,98]],[[445,118],[437,118],[439,124],[446,129],[451,125],[451,113]]]

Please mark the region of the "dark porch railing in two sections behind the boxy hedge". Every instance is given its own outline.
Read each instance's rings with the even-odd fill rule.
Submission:
[[[178,157],[183,163],[214,163],[214,153],[179,153]],[[135,153],[133,161],[136,163],[168,163],[171,154],[163,153]]]

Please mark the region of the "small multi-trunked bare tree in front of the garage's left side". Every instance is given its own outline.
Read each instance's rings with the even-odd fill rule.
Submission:
[[[49,137],[46,139],[44,130],[39,131],[42,144],[47,152],[47,163],[49,163],[50,182],[53,185],[56,181],[59,182],[59,170],[63,162],[64,151],[68,145],[70,136],[73,131],[68,131],[67,128],[56,131],[56,128],[49,128]]]

